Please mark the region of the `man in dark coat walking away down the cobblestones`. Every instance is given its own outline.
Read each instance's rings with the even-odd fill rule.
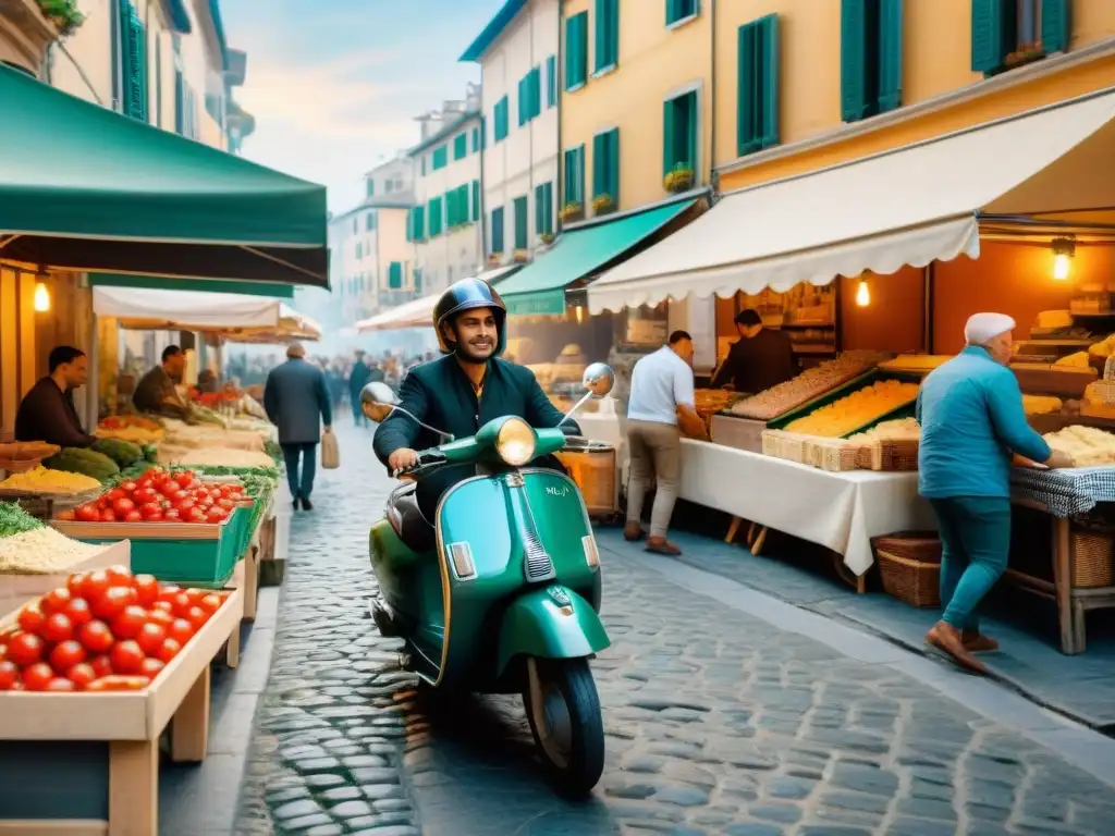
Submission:
[[[279,446],[287,463],[287,484],[294,498],[294,511],[312,511],[310,494],[317,472],[317,450],[321,427],[331,432],[332,399],[324,372],[306,361],[306,349],[293,342],[287,349],[287,362],[268,375],[263,408],[279,427]]]

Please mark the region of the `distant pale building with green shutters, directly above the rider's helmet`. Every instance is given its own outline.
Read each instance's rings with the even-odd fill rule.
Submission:
[[[418,117],[421,139],[408,154],[415,167],[415,207],[407,224],[414,257],[405,288],[434,293],[483,270],[481,215],[481,89]]]

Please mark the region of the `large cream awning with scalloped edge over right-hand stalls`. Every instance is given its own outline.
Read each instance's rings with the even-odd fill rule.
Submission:
[[[726,195],[589,285],[589,310],[979,255],[980,212],[1115,206],[1115,93]]]

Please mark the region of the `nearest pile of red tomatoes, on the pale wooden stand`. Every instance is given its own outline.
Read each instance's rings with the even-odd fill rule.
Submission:
[[[0,635],[0,691],[146,688],[223,603],[124,566],[70,575]]]

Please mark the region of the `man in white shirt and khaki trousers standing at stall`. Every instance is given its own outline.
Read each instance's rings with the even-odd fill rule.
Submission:
[[[630,542],[642,539],[642,505],[653,475],[658,488],[650,514],[647,551],[658,554],[681,554],[681,550],[666,538],[666,531],[681,480],[681,430],[678,425],[680,422],[690,432],[701,425],[694,406],[692,358],[692,338],[685,331],[675,331],[668,346],[639,360],[631,371],[631,397],[628,399],[631,474],[623,536]]]

